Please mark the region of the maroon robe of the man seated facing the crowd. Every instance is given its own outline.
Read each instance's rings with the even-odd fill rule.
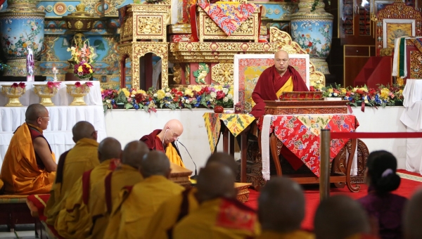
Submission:
[[[276,101],[276,92],[286,84],[288,79],[292,76],[293,80],[293,91],[309,91],[299,72],[291,65],[288,66],[286,73],[283,77],[280,77],[276,67],[273,65],[265,69],[260,78],[258,79],[257,85],[252,93],[252,100],[256,105],[252,108],[250,114],[255,118],[259,118],[264,115],[265,103],[264,101]]]

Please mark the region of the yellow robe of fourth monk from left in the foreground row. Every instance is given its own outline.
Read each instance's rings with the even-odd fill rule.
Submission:
[[[104,238],[143,238],[162,202],[180,195],[183,190],[184,187],[164,176],[149,176],[130,191],[123,189],[115,200]]]

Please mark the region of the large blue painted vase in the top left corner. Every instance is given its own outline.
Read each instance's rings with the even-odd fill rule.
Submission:
[[[0,44],[7,64],[4,76],[27,76],[27,46],[32,46],[34,60],[39,58],[44,44],[43,11],[37,0],[8,0],[8,7],[0,12]],[[35,64],[34,75],[38,75]]]

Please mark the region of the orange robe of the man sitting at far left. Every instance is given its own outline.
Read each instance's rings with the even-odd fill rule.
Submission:
[[[31,126],[42,134],[42,129]],[[54,153],[51,153],[51,157],[56,161]],[[4,182],[4,194],[49,193],[55,177],[56,172],[39,169],[30,129],[27,123],[22,124],[15,131],[1,166],[0,179]]]

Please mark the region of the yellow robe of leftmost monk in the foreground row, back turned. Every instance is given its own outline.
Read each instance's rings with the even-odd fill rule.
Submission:
[[[58,212],[65,208],[65,198],[68,198],[72,186],[84,172],[94,169],[98,164],[100,164],[98,143],[90,138],[82,138],[77,141],[75,147],[66,155],[63,167],[63,182],[55,182],[53,188],[51,188],[51,195],[46,209],[44,209],[47,224],[51,226],[56,224]]]

